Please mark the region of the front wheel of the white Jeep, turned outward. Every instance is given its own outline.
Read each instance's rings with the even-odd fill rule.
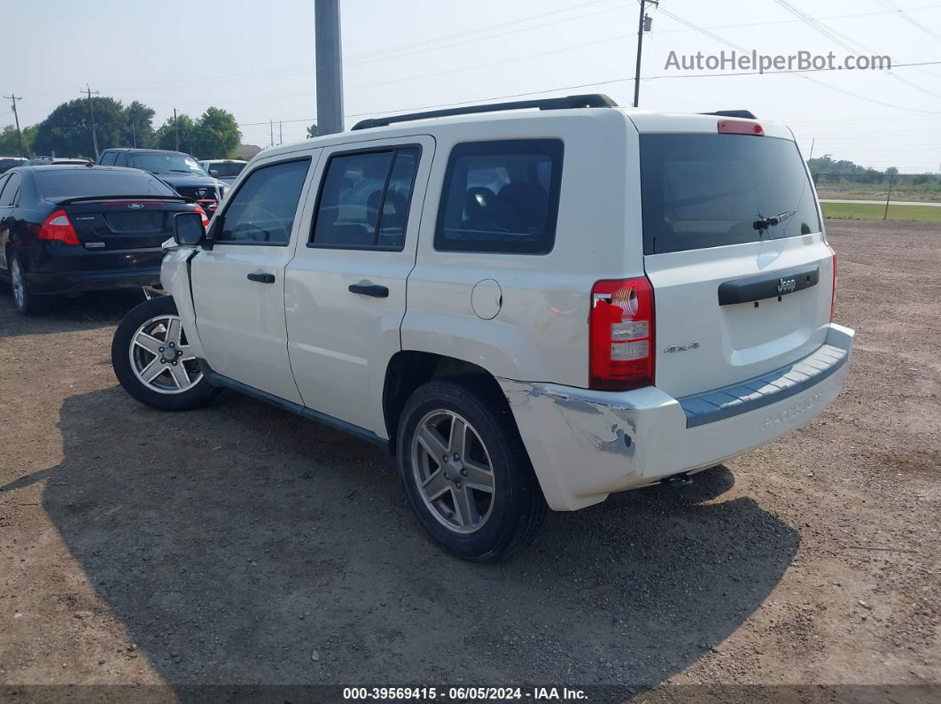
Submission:
[[[120,321],[111,342],[111,365],[120,385],[141,403],[186,411],[221,391],[202,375],[188,348],[176,303],[171,296],[157,296]]]

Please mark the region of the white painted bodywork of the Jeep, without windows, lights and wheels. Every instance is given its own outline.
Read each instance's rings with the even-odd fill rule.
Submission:
[[[164,286],[177,299],[187,331],[196,330],[191,341],[217,371],[379,438],[388,438],[383,386],[395,352],[433,352],[486,369],[506,394],[550,507],[582,508],[609,493],[771,442],[819,414],[845,379],[848,364],[788,399],[686,428],[678,401],[684,394],[742,382],[824,341],[849,352],[853,340],[853,331],[829,322],[832,265],[822,232],[645,258],[639,133],[714,133],[719,119],[622,109],[497,113],[268,149],[236,186],[256,165],[313,157],[291,245],[216,245],[200,252],[191,263],[195,307],[186,272],[189,253],[172,252],[164,263]],[[769,136],[792,138],[787,128],[760,123]],[[435,227],[452,147],[547,137],[565,144],[550,253],[437,251]],[[403,252],[306,247],[324,155],[415,142],[423,145],[423,158]],[[780,306],[774,317],[754,315],[764,302],[758,310],[716,305],[716,288],[724,280],[808,262],[820,264],[819,284],[769,303]],[[245,279],[257,270],[275,273],[279,283]],[[657,386],[588,390],[592,286],[599,279],[645,274],[654,286],[657,348],[694,338],[702,344],[672,359],[658,353]],[[363,280],[387,286],[389,298],[347,290]],[[486,283],[475,298],[474,287],[484,281],[495,284]]]

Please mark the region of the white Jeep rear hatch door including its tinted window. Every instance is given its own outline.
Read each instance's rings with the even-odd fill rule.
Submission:
[[[692,396],[820,347],[832,250],[789,131],[722,117],[634,121],[657,386]]]

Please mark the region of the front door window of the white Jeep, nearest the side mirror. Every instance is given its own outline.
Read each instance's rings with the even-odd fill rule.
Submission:
[[[226,244],[285,246],[291,241],[310,157],[261,166],[227,198],[215,241]]]

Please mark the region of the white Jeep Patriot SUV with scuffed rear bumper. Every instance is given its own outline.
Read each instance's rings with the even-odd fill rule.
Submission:
[[[366,120],[263,151],[174,237],[171,295],[114,337],[127,391],[233,388],[371,440],[468,559],[801,426],[853,343],[793,135],[744,111]]]

